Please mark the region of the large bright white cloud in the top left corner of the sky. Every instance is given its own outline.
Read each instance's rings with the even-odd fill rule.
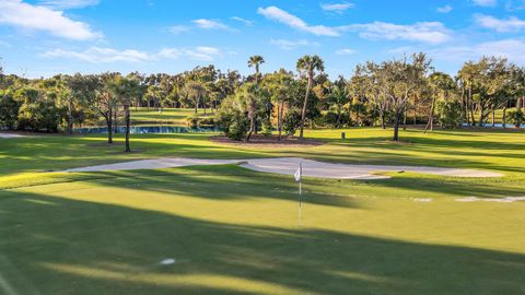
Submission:
[[[47,7],[36,7],[22,0],[0,1],[0,24],[14,27],[44,31],[57,37],[85,40],[102,37],[82,22],[77,22]]]

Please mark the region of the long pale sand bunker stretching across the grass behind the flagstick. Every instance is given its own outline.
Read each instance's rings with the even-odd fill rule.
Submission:
[[[107,172],[107,170],[135,170],[184,167],[195,165],[224,165],[240,164],[242,167],[265,173],[293,175],[299,163],[303,166],[303,175],[307,177],[334,179],[385,179],[388,176],[375,175],[380,172],[411,172],[431,175],[454,177],[501,177],[502,174],[487,170],[439,168],[424,166],[378,166],[378,165],[351,165],[331,164],[304,160],[299,157],[279,158],[252,158],[252,160],[201,160],[201,158],[156,158],[141,160],[117,164],[73,168],[67,172]]]

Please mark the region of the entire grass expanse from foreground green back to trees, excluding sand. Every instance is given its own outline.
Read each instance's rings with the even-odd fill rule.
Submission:
[[[210,134],[0,139],[0,294],[525,294],[525,133],[308,131],[315,148]],[[120,145],[119,145],[120,144]],[[158,156],[301,156],[501,172],[304,181],[234,165],[43,173]],[[478,197],[485,201],[459,202]],[[164,259],[175,263],[162,266]]]

